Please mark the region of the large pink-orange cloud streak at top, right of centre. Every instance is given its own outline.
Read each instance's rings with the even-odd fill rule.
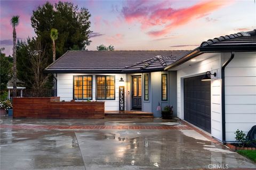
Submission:
[[[128,1],[122,9],[127,23],[140,22],[141,29],[146,30],[155,26],[163,27],[161,30],[149,31],[153,37],[163,36],[172,29],[187,24],[193,19],[200,19],[230,4],[230,1],[201,1],[193,6],[174,9],[170,2],[153,4],[151,1]]]

